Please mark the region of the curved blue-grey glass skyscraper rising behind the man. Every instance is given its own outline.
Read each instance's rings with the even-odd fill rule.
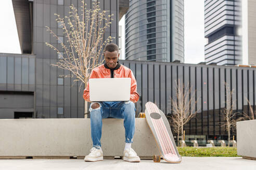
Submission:
[[[184,62],[183,0],[130,0],[125,15],[125,59]]]

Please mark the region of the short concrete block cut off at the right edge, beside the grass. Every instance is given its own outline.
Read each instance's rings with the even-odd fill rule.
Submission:
[[[243,158],[256,159],[256,120],[236,123],[237,155]]]

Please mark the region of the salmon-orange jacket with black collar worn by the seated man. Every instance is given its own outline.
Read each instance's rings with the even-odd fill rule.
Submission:
[[[139,94],[137,93],[137,82],[133,75],[133,72],[130,68],[125,67],[122,64],[116,66],[116,68],[109,68],[107,64],[102,64],[92,70],[90,78],[131,78],[131,95],[130,101],[136,103],[139,98]],[[89,101],[89,82],[87,82],[87,87],[84,89],[83,94],[84,100]]]

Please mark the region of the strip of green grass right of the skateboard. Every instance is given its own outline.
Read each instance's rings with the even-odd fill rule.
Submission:
[[[235,147],[177,147],[182,157],[239,157]]]

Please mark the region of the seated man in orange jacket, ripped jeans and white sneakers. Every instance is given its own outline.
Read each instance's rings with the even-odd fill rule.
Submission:
[[[116,44],[109,44],[104,49],[105,64],[102,64],[92,70],[89,78],[131,78],[131,95],[128,102],[93,102],[89,108],[91,113],[91,135],[93,148],[91,153],[86,155],[85,161],[103,160],[103,151],[101,150],[100,138],[103,118],[124,119],[125,129],[125,161],[140,162],[136,152],[131,148],[135,130],[135,104],[138,101],[137,83],[132,70],[119,64],[119,49]],[[106,89],[108,90],[108,89]],[[89,101],[89,83],[84,90],[84,100]]]

